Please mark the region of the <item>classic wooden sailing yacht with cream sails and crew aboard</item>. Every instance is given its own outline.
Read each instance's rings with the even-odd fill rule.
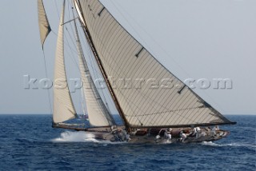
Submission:
[[[83,82],[82,91],[90,128],[66,124],[74,119],[70,90],[54,87],[53,126],[93,133],[96,138],[108,141],[128,142],[197,142],[214,141],[226,137],[229,131],[210,126],[235,124],[223,117],[206,101],[202,100],[187,85],[167,70],[152,54],[129,34],[98,0],[74,0],[78,21],[82,25],[86,42],[101,71],[114,105],[123,125],[117,126],[109,109],[102,101],[90,75],[78,35],[77,18],[74,18],[74,36],[77,42],[79,70]],[[58,29],[54,79],[66,80],[64,62],[64,14],[65,0]],[[38,0],[38,21],[43,43],[50,33],[50,25],[42,0]],[[111,82],[113,79],[131,79],[146,82],[165,81],[166,78],[179,89],[158,87],[149,89],[144,85],[124,88]],[[138,82],[137,82],[138,83]]]

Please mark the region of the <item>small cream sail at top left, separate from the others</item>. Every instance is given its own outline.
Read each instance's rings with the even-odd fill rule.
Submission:
[[[38,25],[40,30],[41,43],[43,47],[46,37],[48,36],[48,34],[50,34],[51,29],[42,0],[38,0]]]

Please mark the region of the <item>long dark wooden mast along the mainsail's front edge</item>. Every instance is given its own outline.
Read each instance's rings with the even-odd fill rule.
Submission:
[[[77,2],[76,0],[74,0],[74,4],[75,4],[76,8],[78,8],[77,9],[77,11],[78,11],[81,8],[80,2]],[[94,46],[94,42],[93,42],[93,40],[91,38],[90,31],[86,27],[86,21],[85,21],[85,19],[83,17],[83,14],[81,14],[81,15],[82,16],[80,16],[80,17],[82,17],[83,30],[84,30],[84,33],[86,34],[86,39],[87,39],[87,41],[88,41],[88,43],[90,45],[90,48],[91,48],[91,50],[92,50],[92,52],[94,54],[94,58],[96,59],[96,62],[98,63],[99,69],[101,70],[101,73],[102,73],[102,76],[103,76],[103,78],[104,78],[104,80],[106,82],[107,88],[110,91],[110,95],[111,95],[111,97],[114,100],[114,105],[118,109],[118,113],[122,117],[122,121],[124,122],[124,125],[126,126],[126,130],[130,131],[130,125],[129,125],[128,121],[126,120],[126,117],[124,116],[123,110],[122,110],[121,106],[119,105],[117,97],[116,97],[116,95],[114,93],[114,90],[113,90],[112,86],[110,85],[110,81],[109,81],[109,79],[107,77],[106,71],[104,70],[104,67],[102,66],[101,59],[98,56],[98,51],[96,50],[96,48]]]

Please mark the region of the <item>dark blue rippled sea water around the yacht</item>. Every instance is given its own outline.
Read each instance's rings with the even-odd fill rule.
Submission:
[[[230,136],[194,144],[97,141],[52,129],[50,115],[0,115],[0,170],[256,170],[256,116],[227,116]]]

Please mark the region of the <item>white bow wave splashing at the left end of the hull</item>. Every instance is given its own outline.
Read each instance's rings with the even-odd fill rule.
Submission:
[[[111,142],[106,140],[98,140],[93,133],[86,133],[82,131],[72,132],[65,131],[61,133],[60,137],[54,138],[51,141],[54,142],[94,142],[102,144],[123,144],[126,142]]]

